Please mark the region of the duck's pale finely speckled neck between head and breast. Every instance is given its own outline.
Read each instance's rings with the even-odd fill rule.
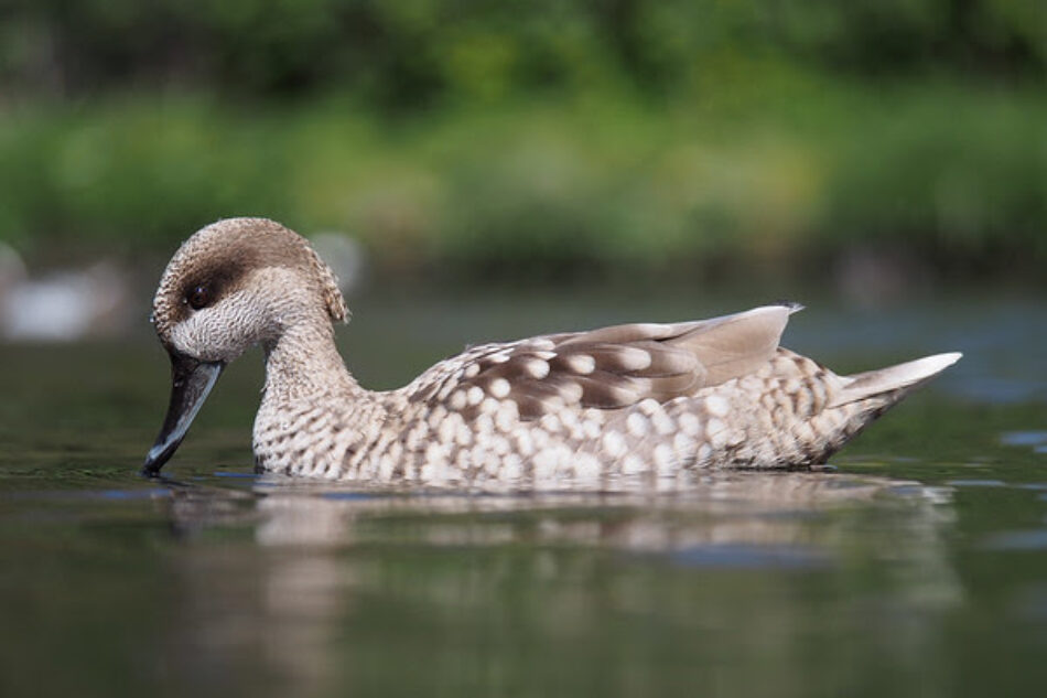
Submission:
[[[266,350],[266,402],[364,394],[345,367],[334,343],[334,329],[326,320],[291,325],[262,346]]]

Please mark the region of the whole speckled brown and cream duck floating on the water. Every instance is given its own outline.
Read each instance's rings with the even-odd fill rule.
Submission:
[[[306,238],[267,218],[222,219],[182,244],[153,299],[172,389],[143,473],[159,475],[223,369],[253,346],[266,361],[256,472],[520,491],[811,469],[961,357],[838,375],[779,345],[800,309],[481,344],[373,391],[337,351],[349,312]]]

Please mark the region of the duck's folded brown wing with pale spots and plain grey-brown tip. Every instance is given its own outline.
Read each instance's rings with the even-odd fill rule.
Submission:
[[[693,395],[754,372],[778,348],[798,305],[766,305],[712,320],[624,324],[485,344],[441,362],[404,388],[411,401],[469,414],[514,400],[524,419],[564,406],[620,409]]]

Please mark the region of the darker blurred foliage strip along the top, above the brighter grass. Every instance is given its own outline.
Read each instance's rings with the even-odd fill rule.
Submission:
[[[677,94],[746,57],[854,75],[1043,79],[1029,0],[21,0],[0,77],[82,94],[191,84],[389,106],[627,82]]]

